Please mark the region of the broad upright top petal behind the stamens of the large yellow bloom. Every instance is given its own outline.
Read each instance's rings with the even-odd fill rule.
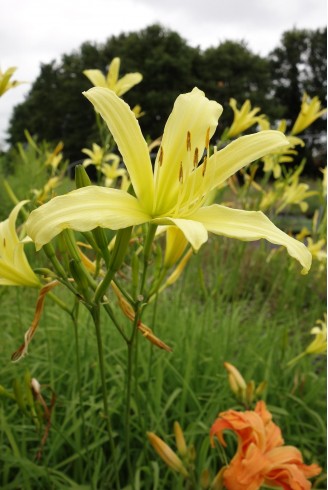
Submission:
[[[185,181],[193,169],[195,151],[199,162],[221,113],[222,106],[208,100],[197,88],[176,99],[155,163],[156,214],[172,208],[181,182],[180,169]]]

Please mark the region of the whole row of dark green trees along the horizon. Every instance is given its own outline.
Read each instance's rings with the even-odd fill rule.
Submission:
[[[141,105],[145,115],[140,125],[150,140],[162,134],[176,97],[194,86],[224,106],[219,131],[232,121],[231,97],[239,104],[250,99],[272,121],[288,118],[292,123],[304,91],[326,103],[326,52],[326,28],[287,31],[267,57],[254,54],[244,42],[230,40],[202,51],[158,24],[112,36],[103,44],[85,42],[60,61],[41,65],[25,101],[14,108],[8,141],[12,145],[23,141],[27,128],[39,139],[62,140],[65,156],[81,159],[81,148],[98,139],[93,108],[81,94],[91,86],[83,70],[106,73],[116,56],[121,58],[121,75],[135,71],[143,75],[124,99],[131,107]],[[310,150],[318,147],[323,131],[322,120],[310,127]]]

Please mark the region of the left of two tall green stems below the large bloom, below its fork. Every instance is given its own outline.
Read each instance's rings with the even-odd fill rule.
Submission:
[[[107,433],[108,433],[110,451],[111,451],[112,458],[113,458],[113,466],[114,466],[114,471],[115,471],[115,483],[116,483],[117,490],[120,490],[121,486],[120,486],[118,465],[117,465],[117,460],[116,460],[114,437],[113,437],[113,433],[112,433],[110,417],[109,417],[109,409],[108,409],[108,393],[107,393],[107,386],[106,386],[104,350],[103,350],[101,328],[100,328],[100,306],[99,305],[95,305],[92,307],[91,315],[92,315],[94,325],[95,325],[95,330],[96,330],[99,370],[100,370],[100,377],[101,377],[102,398],[103,398],[103,406],[104,406],[104,415],[105,415],[105,420],[106,420],[106,428],[107,428]]]

